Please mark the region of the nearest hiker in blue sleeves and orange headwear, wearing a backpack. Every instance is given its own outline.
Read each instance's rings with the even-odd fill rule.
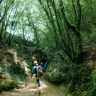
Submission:
[[[37,61],[34,61],[33,64],[34,64],[34,66],[32,68],[32,77],[33,77],[33,75],[36,77],[37,85],[38,85],[38,87],[40,87],[41,74],[39,73],[39,69],[41,68],[41,71],[42,71],[42,67],[38,65]]]

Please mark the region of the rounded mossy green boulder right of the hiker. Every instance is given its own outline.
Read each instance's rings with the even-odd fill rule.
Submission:
[[[60,83],[62,81],[62,75],[58,71],[47,73],[46,77],[48,78],[49,81],[53,83]]]

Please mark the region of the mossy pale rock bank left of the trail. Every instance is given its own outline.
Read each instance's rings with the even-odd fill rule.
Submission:
[[[14,49],[0,49],[0,92],[18,87],[15,74],[24,79],[29,72],[27,62],[20,59]]]

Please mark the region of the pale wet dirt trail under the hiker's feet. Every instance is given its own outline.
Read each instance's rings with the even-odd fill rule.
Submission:
[[[35,78],[28,77],[22,88],[2,92],[0,96],[65,96],[59,85],[54,85],[43,79],[40,80],[40,83],[41,87],[38,89]]]

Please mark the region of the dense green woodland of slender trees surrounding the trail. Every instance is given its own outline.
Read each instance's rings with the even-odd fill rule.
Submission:
[[[25,76],[10,58],[4,66],[14,49],[29,69],[31,56],[47,61],[45,77],[72,96],[95,96],[95,39],[96,0],[0,0],[0,80],[4,68]]]

